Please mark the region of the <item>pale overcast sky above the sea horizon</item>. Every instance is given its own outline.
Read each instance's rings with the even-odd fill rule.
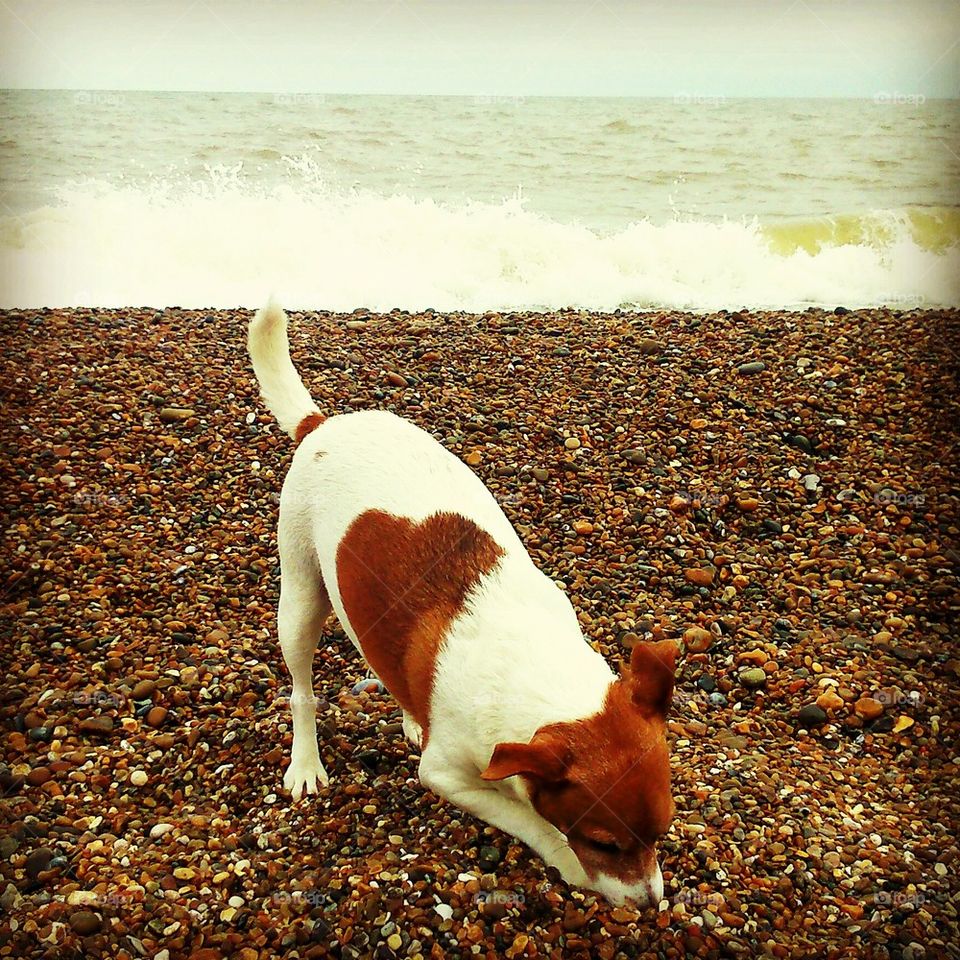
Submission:
[[[960,96],[960,0],[0,0],[0,87]]]

